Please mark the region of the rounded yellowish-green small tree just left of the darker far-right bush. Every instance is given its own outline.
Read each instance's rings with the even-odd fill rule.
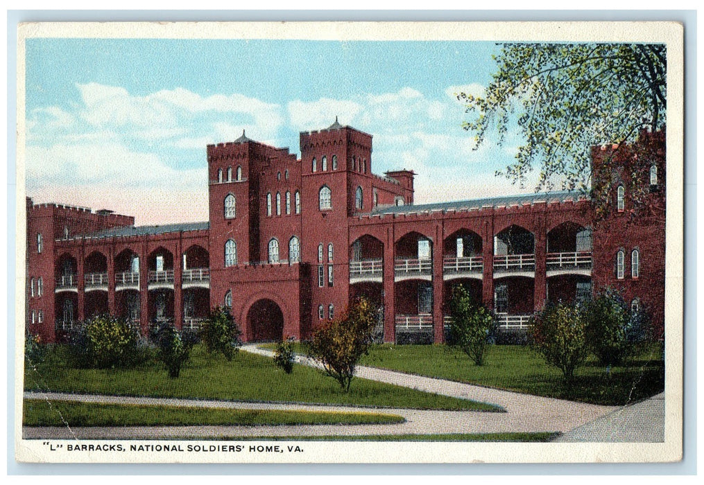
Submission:
[[[530,337],[533,348],[562,370],[567,382],[589,356],[584,316],[574,304],[548,305],[532,319]]]

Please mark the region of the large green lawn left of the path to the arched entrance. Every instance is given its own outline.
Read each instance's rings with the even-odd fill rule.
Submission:
[[[149,362],[134,369],[70,368],[61,346],[46,352],[36,369],[25,368],[25,390],[113,394],[122,396],[222,399],[227,401],[275,401],[344,404],[381,408],[448,410],[501,410],[496,406],[454,399],[381,382],[354,379],[349,392],[322,372],[295,366],[287,375],[272,359],[238,352],[231,362],[207,356],[201,345],[194,347],[191,361],[177,379],[170,379],[160,363]]]

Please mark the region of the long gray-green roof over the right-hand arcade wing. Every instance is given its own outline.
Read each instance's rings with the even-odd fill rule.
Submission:
[[[536,202],[565,202],[567,200],[588,200],[579,192],[539,192],[522,195],[506,195],[484,199],[458,200],[455,202],[437,202],[435,204],[400,205],[377,207],[371,214],[408,214],[410,212],[446,212],[448,210],[481,209],[482,207],[510,207],[512,205],[531,205]]]

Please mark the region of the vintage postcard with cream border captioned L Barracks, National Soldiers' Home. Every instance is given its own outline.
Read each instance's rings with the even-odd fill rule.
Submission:
[[[32,23],[17,99],[16,460],[681,460],[681,25]]]

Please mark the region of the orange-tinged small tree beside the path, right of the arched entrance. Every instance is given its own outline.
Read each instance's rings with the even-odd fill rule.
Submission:
[[[367,299],[353,302],[341,318],[320,328],[308,342],[308,356],[318,361],[326,375],[349,391],[354,369],[372,344],[375,309]]]

